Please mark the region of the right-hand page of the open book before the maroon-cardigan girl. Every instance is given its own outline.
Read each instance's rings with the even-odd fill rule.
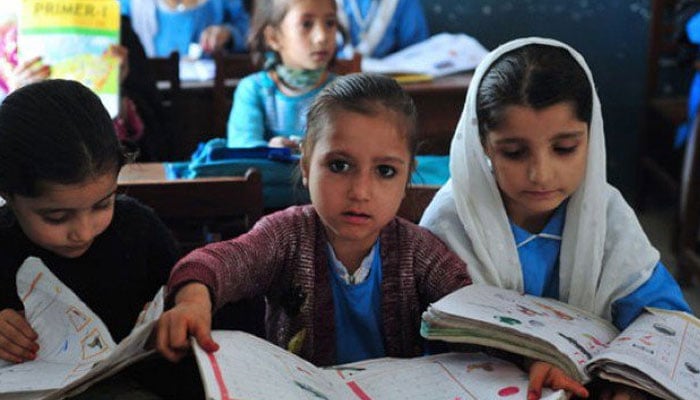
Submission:
[[[525,399],[528,375],[511,362],[483,353],[445,353],[410,359],[380,358],[330,368],[355,399]],[[545,389],[542,399],[566,399]]]

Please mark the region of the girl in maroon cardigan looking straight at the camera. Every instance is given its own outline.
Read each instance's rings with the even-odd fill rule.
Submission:
[[[343,76],[308,115],[301,169],[312,204],[178,262],[175,306],[156,334],[166,358],[179,359],[189,335],[216,350],[212,311],[258,295],[267,298],[267,339],[317,365],[419,356],[422,311],[470,283],[439,240],[396,217],[416,148],[415,107],[401,87]]]

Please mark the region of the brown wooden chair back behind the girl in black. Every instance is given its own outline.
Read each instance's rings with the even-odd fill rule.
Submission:
[[[263,213],[262,179],[252,168],[245,176],[120,181],[119,192],[152,207],[183,251],[243,233]]]

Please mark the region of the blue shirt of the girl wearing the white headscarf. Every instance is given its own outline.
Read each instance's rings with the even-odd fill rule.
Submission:
[[[566,202],[557,208],[539,234],[510,222],[522,266],[525,293],[559,298],[559,251],[564,231]],[[612,305],[613,323],[626,328],[646,306],[691,312],[678,283],[659,262],[649,279]]]

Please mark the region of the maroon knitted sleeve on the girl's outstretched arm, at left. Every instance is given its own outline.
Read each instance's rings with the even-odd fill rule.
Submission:
[[[216,310],[267,293],[281,268],[291,264],[287,250],[295,246],[293,224],[280,215],[263,218],[246,234],[189,253],[173,268],[169,296],[188,282],[201,282],[209,288]]]

